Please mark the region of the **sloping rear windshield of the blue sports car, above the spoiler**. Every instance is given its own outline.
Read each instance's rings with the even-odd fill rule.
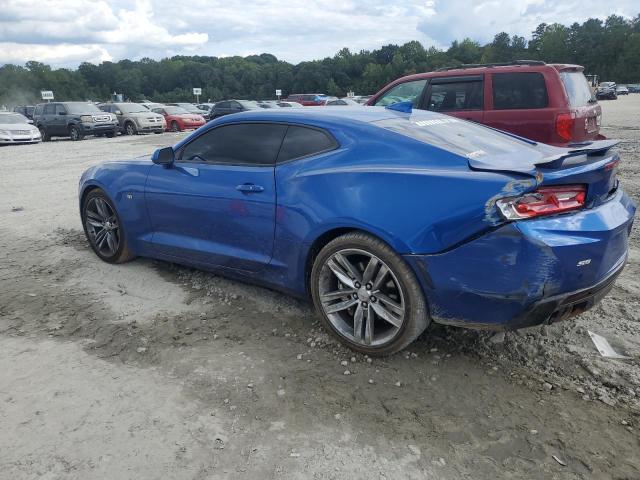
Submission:
[[[473,158],[521,151],[524,141],[454,117],[392,118],[376,125],[458,155]]]

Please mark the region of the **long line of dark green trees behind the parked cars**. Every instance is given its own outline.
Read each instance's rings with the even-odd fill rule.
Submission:
[[[548,63],[576,63],[601,81],[640,83],[640,15],[629,20],[611,15],[565,26],[542,23],[531,38],[495,35],[485,45],[465,38],[448,49],[424,48],[417,41],[385,45],[377,50],[351,52],[343,48],[333,57],[297,65],[263,53],[248,57],[174,56],[156,61],[121,60],[100,65],[82,63],[77,69],[52,69],[40,62],[0,67],[0,104],[32,104],[41,90],[53,90],[58,100],[107,100],[113,92],[134,101],[193,101],[193,87],[201,87],[201,101],[225,98],[274,98],[288,93],[349,91],[372,94],[403,75],[469,63],[516,59]]]

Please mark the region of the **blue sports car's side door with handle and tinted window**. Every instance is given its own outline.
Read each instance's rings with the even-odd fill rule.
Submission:
[[[190,263],[255,272],[271,260],[274,166],[286,126],[233,123],[203,132],[154,165],[145,197],[156,251]]]

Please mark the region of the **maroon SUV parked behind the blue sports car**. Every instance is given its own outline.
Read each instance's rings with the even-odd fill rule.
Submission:
[[[522,137],[566,145],[603,138],[602,111],[579,65],[518,60],[399,78],[367,105],[412,101]]]

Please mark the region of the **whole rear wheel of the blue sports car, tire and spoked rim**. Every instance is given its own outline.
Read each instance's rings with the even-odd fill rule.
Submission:
[[[345,259],[351,268],[341,263]],[[310,289],[324,327],[363,354],[399,352],[430,323],[422,288],[409,265],[366,233],[348,233],[329,242],[313,262]],[[347,293],[341,294],[343,290]]]

